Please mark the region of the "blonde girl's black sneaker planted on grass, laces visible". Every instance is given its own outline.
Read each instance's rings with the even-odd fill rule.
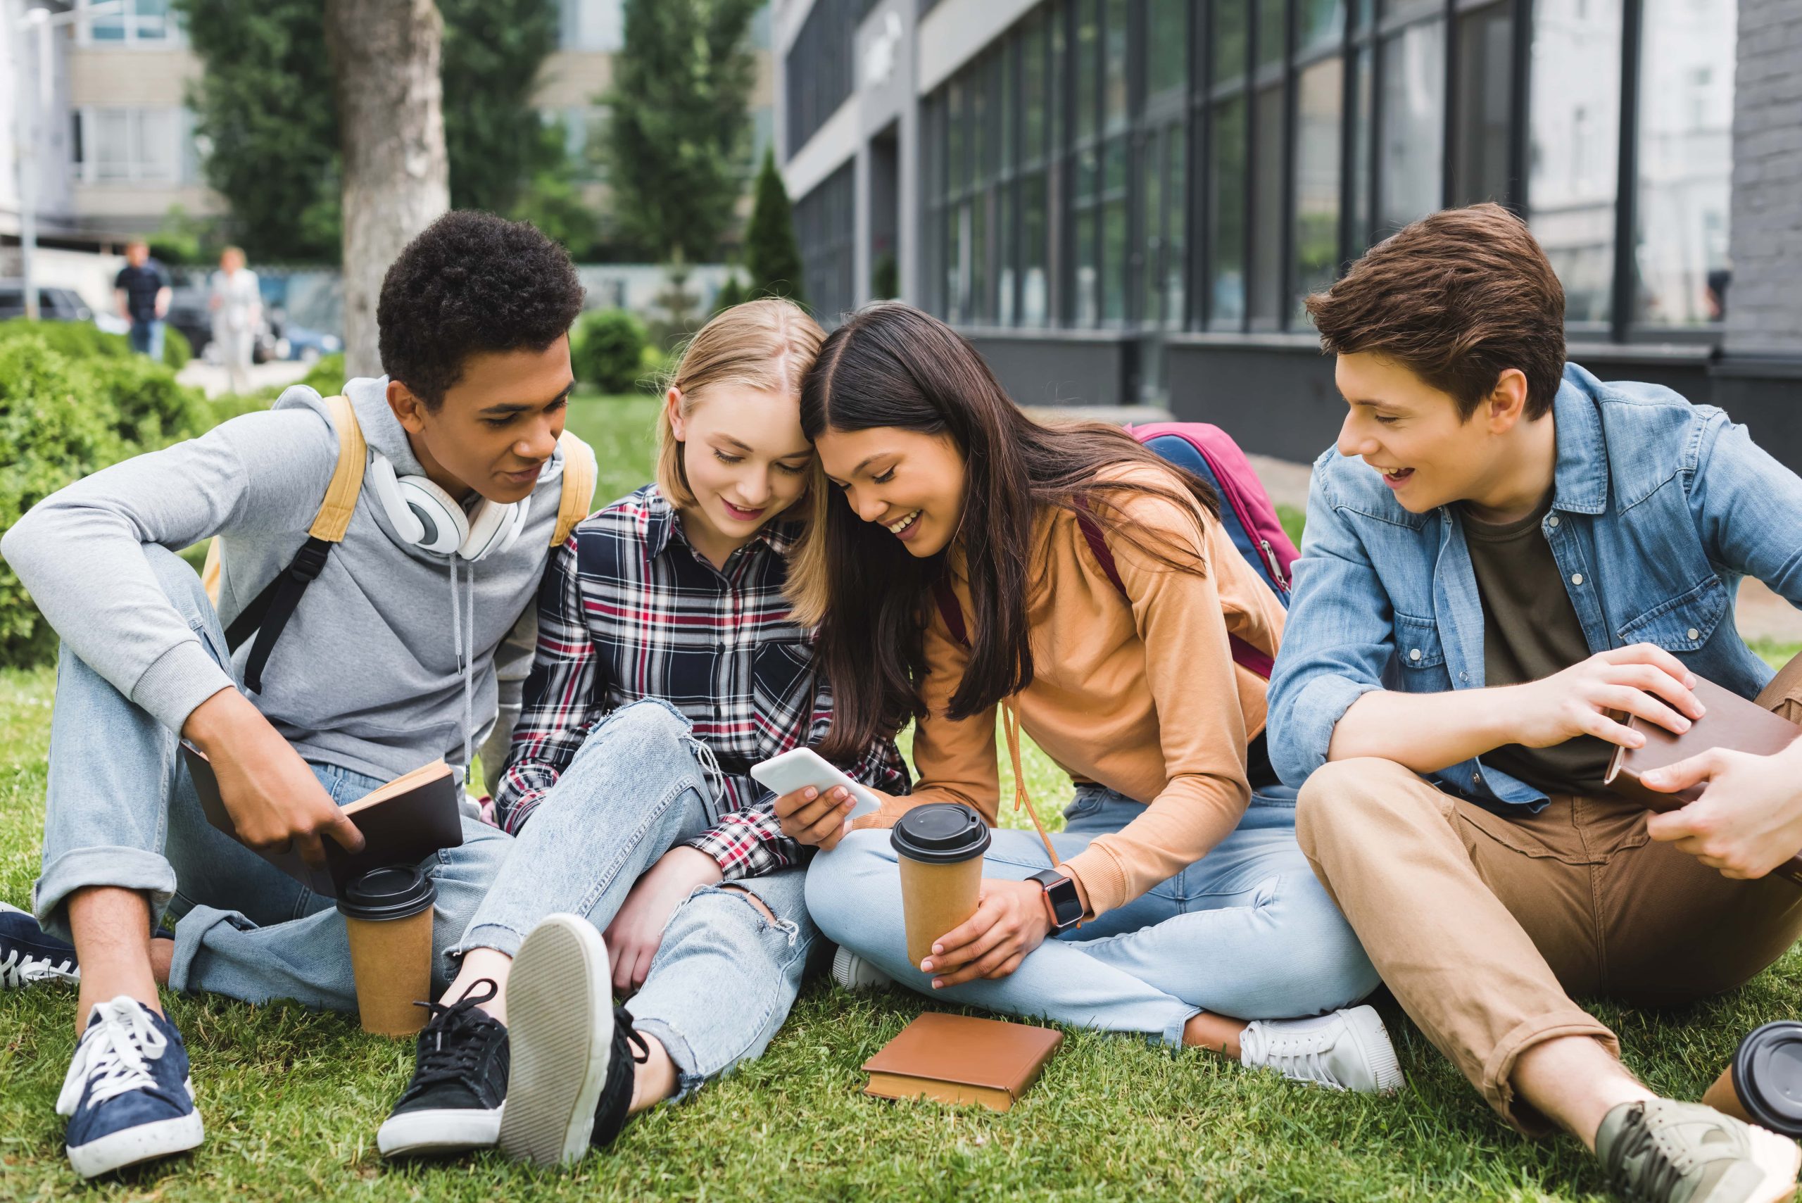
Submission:
[[[487,994],[478,994],[488,987]],[[492,1149],[506,1102],[506,1025],[481,1010],[499,992],[481,978],[456,1003],[420,1003],[431,1023],[420,1032],[413,1081],[375,1133],[382,1156],[450,1156]]]

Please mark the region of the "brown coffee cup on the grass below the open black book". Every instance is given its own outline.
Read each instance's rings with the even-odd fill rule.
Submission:
[[[411,866],[375,868],[339,891],[350,935],[362,1030],[413,1036],[425,1027],[432,989],[432,879]]]

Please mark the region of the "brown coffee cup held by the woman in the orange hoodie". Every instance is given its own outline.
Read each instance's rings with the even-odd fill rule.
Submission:
[[[989,827],[962,803],[933,801],[903,814],[888,843],[901,864],[906,958],[917,969],[933,940],[977,913]]]

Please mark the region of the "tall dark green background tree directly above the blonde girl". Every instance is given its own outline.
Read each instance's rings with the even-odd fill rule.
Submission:
[[[622,232],[706,263],[744,187],[762,0],[625,0],[625,50],[602,97]]]

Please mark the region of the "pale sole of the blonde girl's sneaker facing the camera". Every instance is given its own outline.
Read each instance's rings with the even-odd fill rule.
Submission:
[[[548,915],[519,945],[506,980],[512,1068],[501,1151],[533,1165],[587,1153],[613,1054],[607,944],[578,915]]]

